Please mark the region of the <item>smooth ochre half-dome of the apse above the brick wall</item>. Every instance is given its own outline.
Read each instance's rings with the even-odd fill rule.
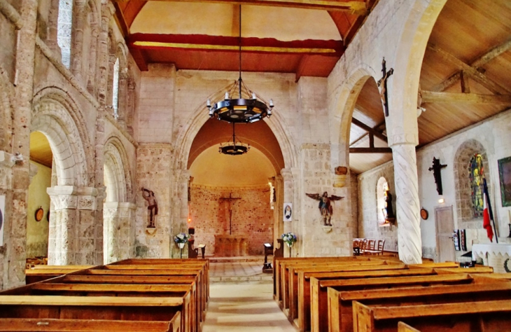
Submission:
[[[190,166],[193,184],[207,186],[254,186],[268,183],[274,177],[272,162],[251,147],[244,155],[223,155],[218,145],[202,151]]]

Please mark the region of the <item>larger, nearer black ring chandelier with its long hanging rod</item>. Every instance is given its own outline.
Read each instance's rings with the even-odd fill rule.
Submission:
[[[231,99],[233,93],[239,92],[239,98]],[[272,115],[273,100],[269,99],[269,105],[248,89],[241,80],[241,5],[239,5],[239,78],[233,83],[228,91],[225,92],[225,99],[211,105],[211,100],[207,101],[210,118],[218,118],[228,123],[253,123],[266,116]]]

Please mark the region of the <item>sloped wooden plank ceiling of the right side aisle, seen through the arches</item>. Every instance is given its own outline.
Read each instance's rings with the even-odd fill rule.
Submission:
[[[419,147],[509,109],[511,1],[448,0],[428,41],[420,89],[426,111],[418,118]],[[385,134],[376,93],[374,81],[367,81],[353,118]],[[369,147],[367,130],[352,124],[350,144]],[[377,138],[373,145],[386,146]],[[390,154],[350,153],[350,167],[360,173],[390,159]]]

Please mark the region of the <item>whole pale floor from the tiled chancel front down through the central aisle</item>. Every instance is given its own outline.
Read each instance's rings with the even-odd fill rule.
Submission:
[[[210,302],[203,332],[295,332],[273,299],[263,258],[211,258]]]

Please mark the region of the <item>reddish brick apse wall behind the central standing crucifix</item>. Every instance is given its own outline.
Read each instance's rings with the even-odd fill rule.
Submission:
[[[240,198],[221,201],[221,198]],[[269,186],[217,187],[193,184],[190,187],[190,224],[195,228],[195,246],[206,244],[206,253],[215,251],[215,235],[239,235],[248,239],[248,254],[262,255],[263,243],[272,242],[273,211]],[[232,228],[230,232],[230,208]]]

